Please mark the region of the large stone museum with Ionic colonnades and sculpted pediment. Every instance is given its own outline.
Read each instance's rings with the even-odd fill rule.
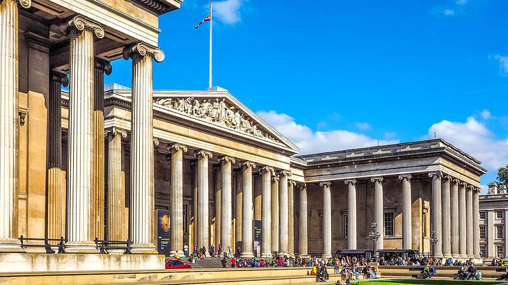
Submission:
[[[163,268],[159,213],[173,256],[331,257],[376,222],[377,250],[480,258],[486,170],[445,140],[298,155],[228,90],[152,90],[180,3],[0,0],[0,271]],[[132,89],[104,88],[120,58]]]

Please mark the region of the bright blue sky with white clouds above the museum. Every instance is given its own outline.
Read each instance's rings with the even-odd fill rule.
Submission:
[[[207,1],[160,18],[154,88],[204,90]],[[216,1],[214,85],[302,153],[436,136],[508,163],[508,1]],[[130,86],[117,60],[106,83]]]

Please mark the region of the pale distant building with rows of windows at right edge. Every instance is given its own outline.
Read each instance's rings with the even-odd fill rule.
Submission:
[[[479,250],[484,261],[490,262],[494,257],[508,256],[507,225],[507,187],[491,182],[487,195],[479,197]]]

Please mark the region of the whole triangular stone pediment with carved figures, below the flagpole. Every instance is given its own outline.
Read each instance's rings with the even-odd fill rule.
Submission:
[[[278,145],[299,152],[291,141],[264,122],[227,90],[180,91],[154,90],[154,106],[189,120],[247,136],[253,140]]]

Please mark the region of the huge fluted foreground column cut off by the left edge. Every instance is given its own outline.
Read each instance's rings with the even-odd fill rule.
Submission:
[[[17,96],[18,8],[17,1],[0,1],[0,252],[23,252],[17,243]],[[30,8],[31,0],[19,1]]]

